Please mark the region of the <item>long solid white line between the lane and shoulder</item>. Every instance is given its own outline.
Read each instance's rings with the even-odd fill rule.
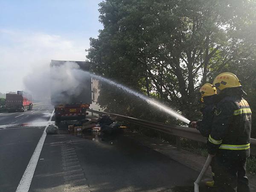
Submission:
[[[54,114],[54,110],[52,111],[52,114],[51,114],[48,122],[52,120],[53,114]],[[43,145],[44,145],[44,140],[46,138],[46,128],[47,128],[47,126],[48,125],[45,126],[44,132],[43,132],[40,140],[38,141],[38,144],[36,145],[35,151],[32,154],[31,159],[29,160],[29,164],[26,167],[26,170],[25,170],[25,172],[24,172],[24,174],[23,174],[23,176],[20,180],[20,183],[19,183],[19,185],[16,189],[16,192],[28,192],[29,191],[31,181],[32,181],[33,175],[35,173],[35,168],[36,168],[36,165],[38,163],[38,159],[39,159],[39,156],[41,154],[41,151],[42,151],[42,148],[43,148]]]

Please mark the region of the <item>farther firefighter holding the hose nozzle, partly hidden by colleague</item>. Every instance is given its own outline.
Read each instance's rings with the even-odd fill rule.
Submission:
[[[191,122],[191,127],[198,129],[204,137],[209,137],[211,133],[212,119],[214,115],[215,105],[218,102],[218,95],[215,87],[212,87],[212,84],[204,84],[199,92],[201,93],[201,101],[204,103],[204,108],[201,109],[203,114],[203,119],[197,122]],[[211,163],[212,168],[212,178],[213,180],[207,181],[205,184],[209,187],[214,185],[214,158],[212,158]]]

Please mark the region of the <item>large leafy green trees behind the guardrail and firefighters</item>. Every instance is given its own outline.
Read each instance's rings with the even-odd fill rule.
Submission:
[[[87,55],[95,73],[195,119],[198,88],[230,71],[256,107],[255,0],[105,0],[99,6],[104,29],[90,38]],[[99,99],[108,110],[148,110],[109,90],[103,88]]]

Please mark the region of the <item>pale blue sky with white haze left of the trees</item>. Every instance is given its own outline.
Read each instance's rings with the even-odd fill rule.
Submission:
[[[0,92],[26,89],[51,59],[84,61],[101,1],[0,0]]]

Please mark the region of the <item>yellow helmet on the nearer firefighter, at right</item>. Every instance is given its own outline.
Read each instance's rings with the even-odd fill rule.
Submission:
[[[233,73],[221,73],[213,81],[213,86],[219,90],[224,90],[227,87],[240,87],[240,81]]]

